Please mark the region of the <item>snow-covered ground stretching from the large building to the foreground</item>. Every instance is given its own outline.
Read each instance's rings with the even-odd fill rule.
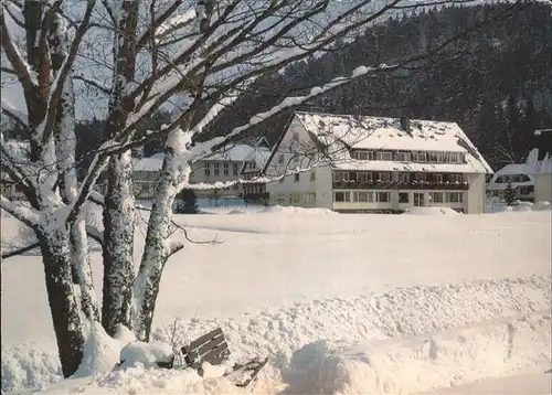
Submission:
[[[269,356],[255,393],[499,393],[514,380],[505,377],[550,377],[543,374],[552,363],[550,211],[204,210],[214,214],[176,221],[192,238],[224,243],[187,244],[171,258],[153,338],[184,345],[221,325],[235,361]],[[15,227],[2,217],[2,239]],[[137,256],[140,244],[138,232]],[[59,374],[41,265],[36,256],[2,263],[3,391],[42,386]],[[103,357],[105,365],[116,362]],[[463,386],[489,378],[479,389]],[[518,393],[546,393],[534,385]],[[47,391],[70,392],[240,391],[217,374],[201,380],[136,367]]]

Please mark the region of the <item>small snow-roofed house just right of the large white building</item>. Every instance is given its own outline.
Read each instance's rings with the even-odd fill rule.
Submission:
[[[507,164],[498,170],[487,184],[487,196],[502,199],[508,185],[514,190],[514,199],[522,202],[534,202],[534,178],[529,174],[529,168],[526,163]]]

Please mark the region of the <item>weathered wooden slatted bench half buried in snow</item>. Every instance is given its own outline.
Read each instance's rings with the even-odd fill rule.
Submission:
[[[223,364],[230,356],[230,349],[222,329],[217,328],[192,341],[188,346],[183,346],[182,355],[185,365],[197,370],[203,376],[202,363]],[[266,357],[263,361],[258,359],[252,360],[244,365],[236,364],[233,366],[232,372],[224,374],[224,376],[230,378],[231,376],[244,375],[245,380],[236,384],[236,386],[246,388],[267,362],[268,359]]]

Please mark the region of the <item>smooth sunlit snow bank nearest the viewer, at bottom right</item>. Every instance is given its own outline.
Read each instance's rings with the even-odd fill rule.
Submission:
[[[403,394],[550,363],[548,310],[433,335],[354,346],[307,344],[287,380],[295,394]]]

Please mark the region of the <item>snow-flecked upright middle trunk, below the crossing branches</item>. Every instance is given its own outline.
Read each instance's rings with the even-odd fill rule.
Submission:
[[[104,300],[102,325],[115,335],[120,324],[131,328],[135,199],[130,151],[108,166],[104,206]]]

